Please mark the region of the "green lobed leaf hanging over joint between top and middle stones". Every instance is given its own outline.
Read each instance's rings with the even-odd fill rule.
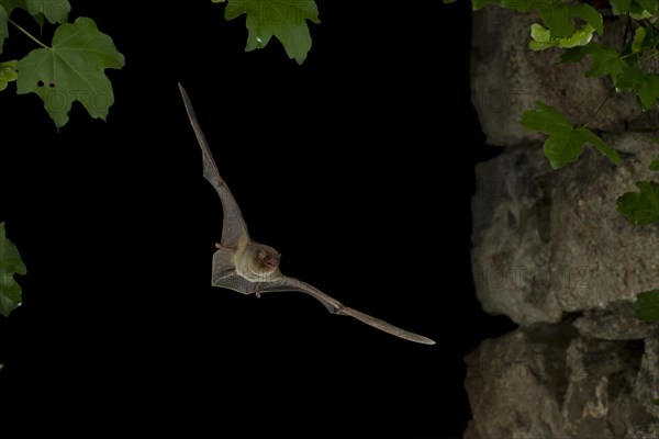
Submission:
[[[584,145],[591,144],[614,164],[619,164],[617,153],[595,133],[584,126],[573,126],[561,112],[537,101],[537,109],[522,115],[522,125],[548,135],[544,151],[554,169],[576,161],[583,153]]]

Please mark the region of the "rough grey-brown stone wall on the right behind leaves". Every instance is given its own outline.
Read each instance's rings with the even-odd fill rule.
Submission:
[[[472,101],[488,142],[506,148],[476,169],[472,271],[483,309],[520,328],[467,356],[465,438],[659,438],[659,324],[632,309],[659,289],[659,228],[615,209],[636,181],[657,180],[648,131],[659,117],[616,94],[589,126],[623,164],[587,147],[551,170],[522,112],[539,98],[583,123],[611,89],[583,78],[587,61],[557,67],[558,52],[532,53],[522,42],[535,20],[474,15]]]

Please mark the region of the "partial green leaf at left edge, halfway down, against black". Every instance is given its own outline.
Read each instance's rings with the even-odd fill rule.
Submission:
[[[4,223],[0,223],[0,314],[4,317],[21,304],[21,285],[13,275],[26,273],[19,249],[7,239]]]

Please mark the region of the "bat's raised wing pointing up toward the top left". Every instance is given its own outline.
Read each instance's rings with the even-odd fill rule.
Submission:
[[[211,154],[211,148],[209,147],[205,136],[203,135],[203,132],[199,126],[199,122],[197,121],[197,116],[194,115],[194,109],[192,108],[190,98],[180,83],[179,89],[181,90],[181,95],[183,97],[183,103],[186,104],[186,110],[188,112],[190,123],[192,124],[192,130],[194,130],[194,135],[197,136],[199,146],[201,147],[201,155],[203,158],[203,177],[213,185],[213,188],[215,188],[220,194],[220,199],[222,200],[224,219],[222,222],[221,244],[225,247],[235,249],[238,247],[238,241],[242,237],[248,237],[247,225],[243,219],[243,214],[241,213],[238,203],[236,203],[236,200],[231,194],[226,182],[220,176],[220,171],[217,170],[217,166],[215,165],[215,160]]]

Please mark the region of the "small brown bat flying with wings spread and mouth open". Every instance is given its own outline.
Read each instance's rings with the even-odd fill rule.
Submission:
[[[257,296],[260,296],[261,293],[273,291],[300,291],[317,299],[332,314],[354,317],[367,325],[404,338],[405,340],[434,345],[435,341],[427,337],[401,329],[384,320],[347,307],[316,288],[281,273],[279,270],[281,255],[272,247],[259,244],[249,238],[247,225],[243,219],[241,209],[228,190],[226,182],[220,176],[205,136],[194,115],[190,98],[180,83],[179,89],[183,98],[188,117],[192,124],[192,130],[194,130],[197,140],[199,140],[199,145],[201,146],[203,177],[220,194],[224,211],[222,239],[220,244],[215,245],[217,250],[213,255],[212,284],[243,294],[256,294]]]

